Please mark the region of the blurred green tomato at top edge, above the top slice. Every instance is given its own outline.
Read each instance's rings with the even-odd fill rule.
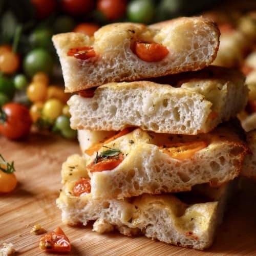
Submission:
[[[151,23],[155,15],[152,0],[133,0],[127,7],[127,16],[131,22]]]

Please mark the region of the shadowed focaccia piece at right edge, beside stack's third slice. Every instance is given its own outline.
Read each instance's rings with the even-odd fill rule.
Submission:
[[[251,154],[245,156],[240,175],[256,180],[256,130],[246,133],[246,141]]]

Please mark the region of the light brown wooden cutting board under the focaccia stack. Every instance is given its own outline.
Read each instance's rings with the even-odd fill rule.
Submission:
[[[37,223],[47,231],[60,226],[72,243],[71,255],[256,255],[253,188],[235,196],[214,245],[204,252],[145,237],[128,238],[117,232],[98,234],[91,227],[63,225],[55,204],[61,188],[60,168],[75,153],[79,153],[78,143],[59,137],[32,134],[19,142],[0,137],[0,154],[8,161],[14,160],[18,179],[13,193],[0,196],[0,243],[13,243],[16,255],[46,255],[38,248],[39,237],[30,234]]]

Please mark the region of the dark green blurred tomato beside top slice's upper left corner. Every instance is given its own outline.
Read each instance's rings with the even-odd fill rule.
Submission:
[[[52,46],[53,32],[48,28],[36,29],[29,36],[29,42],[33,48],[49,49]]]

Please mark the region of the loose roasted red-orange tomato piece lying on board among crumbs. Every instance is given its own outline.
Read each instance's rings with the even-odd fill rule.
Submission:
[[[39,248],[47,252],[70,252],[71,245],[68,237],[60,227],[47,233],[39,239]]]

